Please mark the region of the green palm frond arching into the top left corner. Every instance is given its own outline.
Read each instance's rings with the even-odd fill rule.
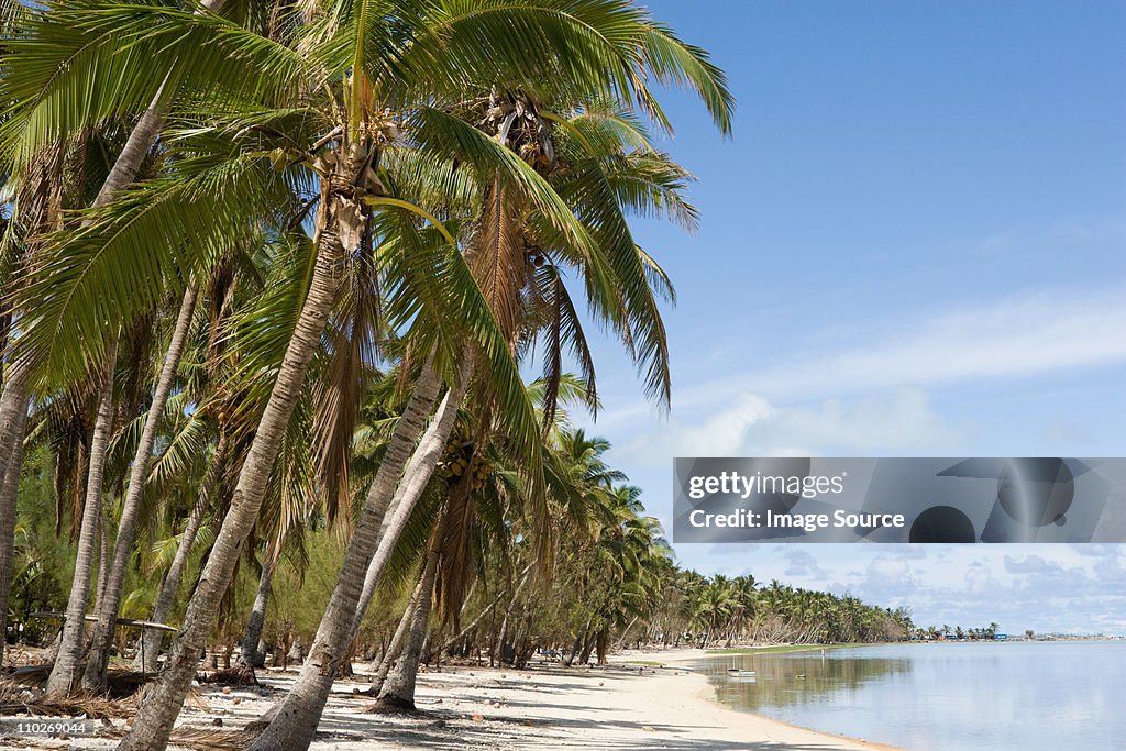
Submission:
[[[0,55],[0,153],[44,145],[149,108],[158,93],[272,100],[306,72],[294,51],[214,14],[167,5],[59,0],[29,14]]]

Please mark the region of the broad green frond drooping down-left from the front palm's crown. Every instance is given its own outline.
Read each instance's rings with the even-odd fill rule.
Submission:
[[[208,274],[238,238],[292,196],[284,172],[257,154],[202,155],[181,175],[135,184],[88,223],[48,240],[45,260],[12,304],[27,311],[17,356],[26,352],[54,381],[97,364],[111,321],[128,322],[194,272]]]

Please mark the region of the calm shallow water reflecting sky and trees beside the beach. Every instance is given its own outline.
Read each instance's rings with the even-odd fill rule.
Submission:
[[[727,668],[758,676],[731,679]],[[911,751],[1126,749],[1120,641],[724,655],[700,669],[725,704]]]

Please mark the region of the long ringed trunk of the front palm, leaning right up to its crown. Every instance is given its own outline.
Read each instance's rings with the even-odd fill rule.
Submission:
[[[356,173],[351,158],[341,161],[345,162],[338,166],[341,175]],[[345,253],[340,235],[341,220],[336,211],[340,200],[334,195],[329,195],[322,199],[318,209],[325,212],[318,221],[318,226],[323,230],[319,232],[316,266],[297,327],[286,348],[270,399],[239,473],[231,509],[223,519],[199,584],[188,604],[168,665],[161,672],[160,680],[145,694],[133,730],[118,745],[120,751],[162,751],[168,745],[172,725],[184,706],[199,652],[215,625],[220,601],[231,583],[242,545],[258,519],[258,510],[277,461],[282,438],[301,395],[305,372],[320,346],[325,321],[340,286],[339,267]]]

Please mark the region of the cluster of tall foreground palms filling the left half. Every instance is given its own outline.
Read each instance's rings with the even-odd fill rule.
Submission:
[[[310,520],[334,525],[309,659],[253,745],[307,748],[410,549],[413,681],[430,600],[452,613],[473,584],[491,467],[489,525],[520,530],[525,566],[563,545],[566,369],[597,404],[580,309],[668,403],[671,287],[628,220],[694,225],[653,87],[727,133],[723,73],[629,0],[3,0],[0,25],[0,617],[24,454],[46,452],[74,543],[47,695],[105,688],[126,581],[153,564],[178,631],[120,748],[163,749],[239,569],[265,614]],[[620,509],[610,538],[637,531]],[[620,570],[598,585],[633,587]]]

